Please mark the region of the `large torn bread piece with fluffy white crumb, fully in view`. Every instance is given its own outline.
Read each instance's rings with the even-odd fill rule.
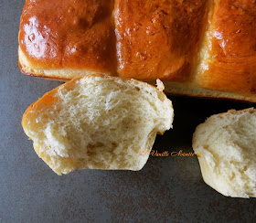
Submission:
[[[172,127],[172,102],[162,84],[158,90],[100,75],[70,80],[30,105],[22,126],[58,175],[87,168],[140,170],[156,133]]]

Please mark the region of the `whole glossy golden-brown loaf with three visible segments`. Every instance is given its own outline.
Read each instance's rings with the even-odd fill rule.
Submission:
[[[256,5],[245,0],[27,0],[24,73],[165,82],[165,92],[256,101]]]

